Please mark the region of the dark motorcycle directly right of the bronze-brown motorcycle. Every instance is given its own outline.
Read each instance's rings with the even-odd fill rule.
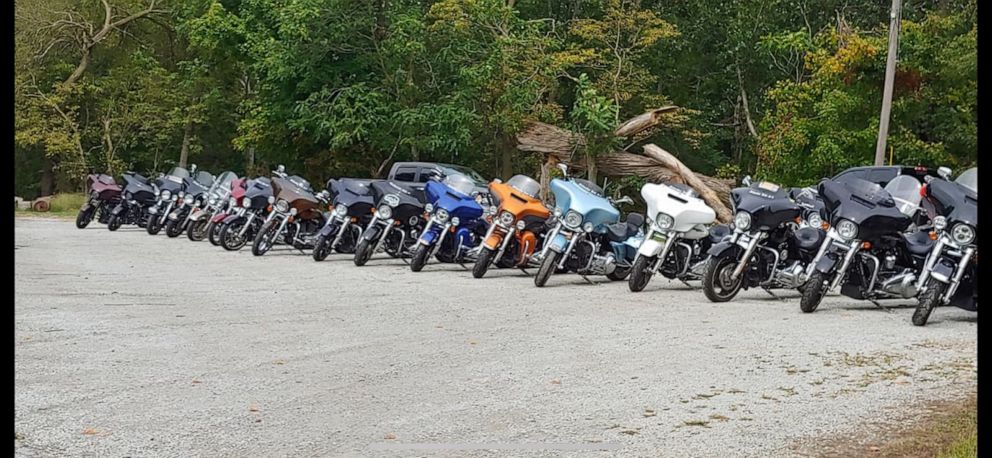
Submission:
[[[372,220],[372,180],[357,178],[330,179],[333,211],[320,230],[313,246],[313,260],[323,261],[331,251],[354,253],[358,238]]]

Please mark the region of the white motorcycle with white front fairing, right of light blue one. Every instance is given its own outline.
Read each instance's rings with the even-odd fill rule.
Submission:
[[[648,233],[637,248],[627,287],[641,291],[657,273],[682,282],[701,278],[707,251],[730,230],[727,226],[710,227],[716,212],[683,184],[647,183],[641,197],[648,206]]]

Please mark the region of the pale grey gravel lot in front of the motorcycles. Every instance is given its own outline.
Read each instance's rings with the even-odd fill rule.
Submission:
[[[789,456],[977,385],[956,308],[917,328],[908,302],[805,315],[45,219],[14,248],[20,456]],[[454,448],[385,449],[425,443]]]

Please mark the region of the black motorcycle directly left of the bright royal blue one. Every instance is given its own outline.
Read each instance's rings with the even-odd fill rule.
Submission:
[[[355,265],[363,266],[373,254],[385,251],[394,257],[409,256],[410,247],[424,229],[424,185],[384,180],[372,183],[376,202],[372,220],[355,248]]]

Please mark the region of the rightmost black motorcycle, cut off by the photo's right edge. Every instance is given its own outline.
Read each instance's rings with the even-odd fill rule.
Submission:
[[[916,282],[919,301],[913,324],[927,324],[933,309],[954,305],[978,311],[978,168],[950,181],[950,170],[941,168],[944,179],[932,179],[921,193],[938,214],[931,238],[936,243],[927,255]]]

